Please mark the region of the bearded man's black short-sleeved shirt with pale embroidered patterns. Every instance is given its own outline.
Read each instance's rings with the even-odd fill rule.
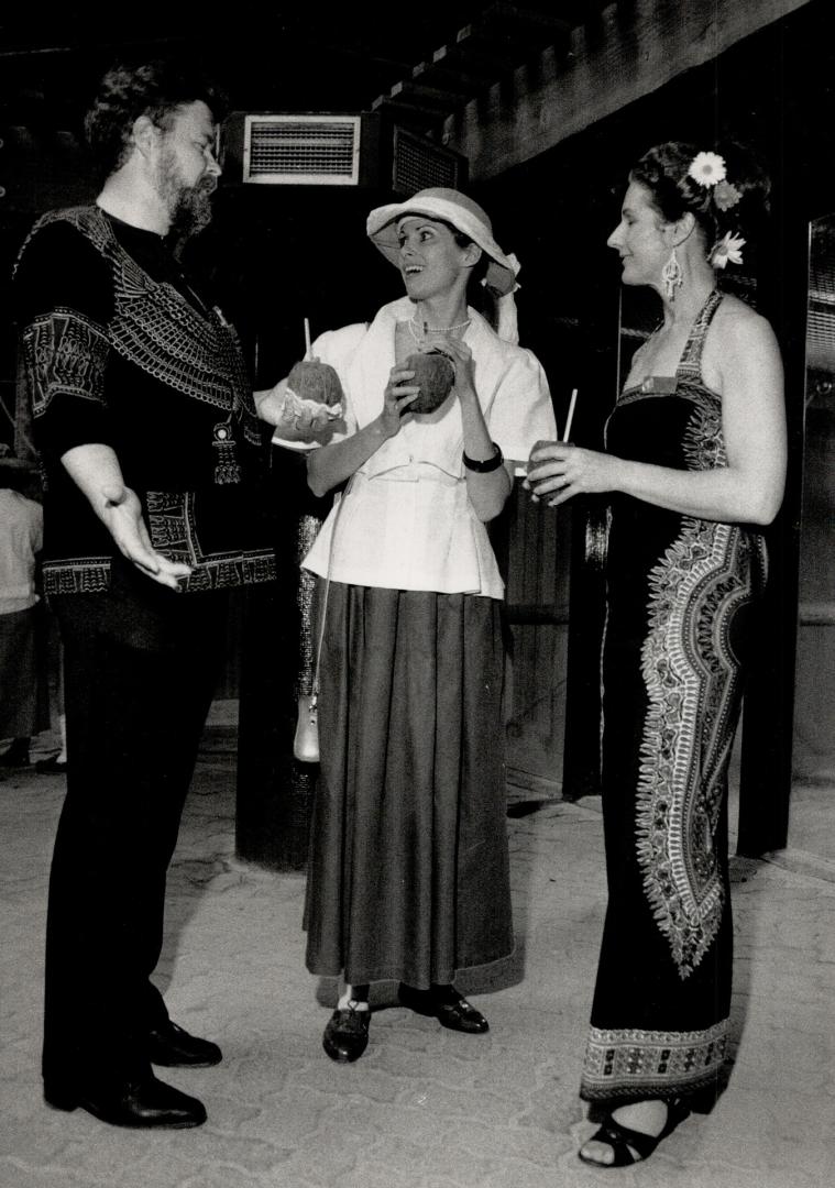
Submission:
[[[267,449],[234,329],[165,240],[97,207],[40,219],[15,267],[17,316],[42,456],[44,584],[107,588],[114,544],[61,457],[110,446],[153,548],[185,590],[276,575]]]

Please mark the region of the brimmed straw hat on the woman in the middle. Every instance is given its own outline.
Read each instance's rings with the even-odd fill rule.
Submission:
[[[460,190],[434,187],[413,194],[405,202],[375,207],[368,215],[366,230],[372,242],[397,266],[400,264],[397,225],[405,215],[426,215],[429,219],[442,219],[451,223],[456,230],[477,244],[488,257],[487,285],[502,296],[513,292],[519,265],[505,255],[493,239],[491,221],[477,202],[473,202]]]

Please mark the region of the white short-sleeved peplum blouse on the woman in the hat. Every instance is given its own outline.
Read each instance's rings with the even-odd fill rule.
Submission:
[[[394,328],[413,309],[403,297],[384,305],[371,326],[329,330],[314,343],[312,355],[336,369],[344,392],[344,421],[331,441],[379,415],[394,366]],[[536,441],[556,437],[545,373],[530,350],[504,342],[474,309],[468,316],[464,341],[491,437],[506,461],[524,462]],[[406,417],[356,472],[303,567],[323,577],[330,568],[333,581],[354,586],[502,598],[504,582],[464,475],[457,400]]]

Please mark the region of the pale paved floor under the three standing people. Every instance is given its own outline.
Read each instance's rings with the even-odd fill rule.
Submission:
[[[517,804],[508,821],[518,950],[464,985],[487,1036],[380,1009],[367,1054],[321,1048],[333,987],[303,965],[304,879],[234,857],[233,757],[207,748],[170,881],[162,984],[216,1038],[215,1069],[167,1078],[209,1111],[192,1131],[132,1133],[43,1105],[42,935],[63,778],[0,783],[4,862],[0,1188],[829,1188],[835,1182],[835,881],[734,862],[729,1088],[650,1162],[596,1171],[576,1098],[605,887],[596,804]],[[779,857],[779,855],[778,855]],[[102,961],[107,954],[102,954]],[[393,987],[379,987],[377,1004]]]

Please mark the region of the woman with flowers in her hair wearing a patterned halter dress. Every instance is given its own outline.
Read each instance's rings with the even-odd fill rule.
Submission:
[[[663,321],[609,416],[606,453],[548,443],[531,489],[549,504],[611,492],[602,651],[608,910],[581,1095],[603,1125],[599,1165],[646,1158],[715,1088],[726,1056],[732,921],[727,770],[761,527],[783,498],[779,350],[768,323],[722,295],[739,232],[766,194],[733,151],[681,143],[630,175],[609,246]]]

